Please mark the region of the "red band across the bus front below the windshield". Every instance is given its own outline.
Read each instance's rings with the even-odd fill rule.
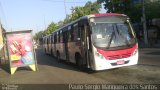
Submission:
[[[97,49],[97,52],[102,54],[107,60],[115,60],[115,59],[130,57],[136,48],[138,48],[138,45],[134,45],[132,48],[129,49],[116,50],[116,51],[104,51]]]

